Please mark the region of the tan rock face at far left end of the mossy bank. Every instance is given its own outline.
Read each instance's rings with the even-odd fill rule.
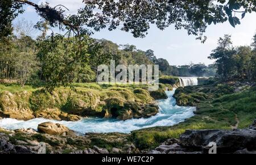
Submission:
[[[28,105],[31,93],[27,91],[11,94],[4,91],[0,94],[0,116],[18,120],[34,119],[33,111]]]

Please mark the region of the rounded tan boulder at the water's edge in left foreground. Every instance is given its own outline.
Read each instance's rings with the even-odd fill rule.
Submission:
[[[56,136],[75,136],[75,132],[73,130],[67,128],[61,124],[55,124],[52,122],[44,122],[38,125],[39,133],[46,133]]]

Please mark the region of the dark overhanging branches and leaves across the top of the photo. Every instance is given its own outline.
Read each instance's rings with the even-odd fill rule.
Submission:
[[[147,0],[81,0],[85,7],[80,9],[77,15],[66,16],[63,6],[50,7],[48,3],[44,6],[36,5],[27,0],[2,0],[1,11],[3,16],[9,16],[6,24],[22,12],[22,5],[27,4],[35,8],[36,12],[43,19],[47,20],[50,26],[67,26],[73,31],[84,31],[82,27],[92,27],[99,31],[102,28],[110,30],[121,26],[123,31],[131,31],[135,37],[143,37],[150,24],[156,24],[160,29],[174,25],[176,29],[184,28],[189,35],[198,36],[197,39],[204,40],[203,33],[207,24],[223,23],[229,20],[235,27],[240,24],[240,19],[236,13],[241,12],[241,18],[246,13],[255,12],[256,2],[254,0],[241,1],[217,0],[218,5],[213,5],[212,1],[181,0],[181,1],[147,1]],[[96,10],[97,9],[97,10]],[[242,11],[238,11],[242,9]],[[94,12],[98,11],[98,12]],[[3,17],[4,18],[4,17]],[[2,28],[1,28],[2,30]],[[8,35],[10,33],[6,33]]]

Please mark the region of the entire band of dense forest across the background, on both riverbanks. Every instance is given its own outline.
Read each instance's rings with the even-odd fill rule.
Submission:
[[[20,28],[20,25],[23,28]],[[19,28],[18,28],[19,27]],[[33,39],[29,33],[31,29],[38,29],[42,33]],[[218,40],[218,47],[213,50],[209,58],[216,60],[212,65],[190,64],[171,66],[167,60],[157,58],[154,50],[139,50],[135,45],[118,45],[108,40],[97,40],[86,36],[83,43],[84,58],[74,62],[76,51],[69,48],[69,42],[76,42],[75,38],[68,40],[63,36],[46,36],[47,22],[39,22],[34,27],[26,20],[20,20],[14,35],[1,39],[0,49],[0,78],[2,82],[17,82],[22,86],[26,83],[45,83],[46,87],[65,85],[72,82],[95,82],[97,66],[110,64],[158,64],[160,74],[180,77],[210,77],[230,79],[255,79],[256,68],[256,35],[250,46],[232,46],[231,36],[225,35]],[[70,36],[69,36],[70,37]],[[57,49],[51,50],[56,44]],[[69,48],[69,49],[65,49]],[[170,52],[171,53],[171,52]],[[68,75],[64,73],[70,73]],[[63,79],[64,77],[64,79]],[[58,82],[63,79],[63,82]]]

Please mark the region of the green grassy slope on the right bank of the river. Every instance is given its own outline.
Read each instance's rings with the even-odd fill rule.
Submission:
[[[225,88],[226,87],[226,88]],[[225,88],[224,90],[222,90]],[[233,93],[232,86],[196,86],[179,88],[176,92],[190,99],[199,99],[196,115],[174,126],[147,128],[131,133],[132,141],[142,150],[154,149],[168,138],[178,138],[186,129],[247,128],[256,119],[256,87]],[[199,92],[201,93],[200,97]],[[206,91],[206,92],[202,92]],[[180,99],[180,98],[178,98]],[[189,105],[187,101],[187,105]],[[238,118],[238,121],[236,119]]]

